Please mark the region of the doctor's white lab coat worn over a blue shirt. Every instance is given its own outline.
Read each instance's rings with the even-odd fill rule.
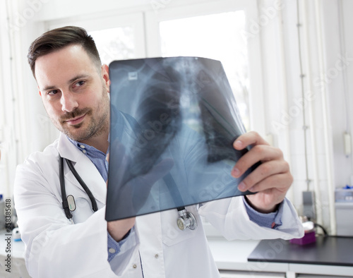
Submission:
[[[98,211],[93,213],[88,195],[65,164],[66,194],[76,200],[75,224],[68,221],[61,207],[58,152],[73,162],[97,200]],[[141,265],[144,278],[219,277],[200,215],[229,240],[303,235],[297,213],[288,201],[280,230],[251,222],[241,198],[213,201],[199,209],[187,207],[198,221],[194,231],[177,229],[177,210],[157,212],[136,218],[136,246],[126,253],[119,273],[114,274],[107,261],[106,184],[90,159],[66,135],[61,134],[43,152],[35,152],[18,166],[14,190],[25,261],[33,278],[141,278]]]

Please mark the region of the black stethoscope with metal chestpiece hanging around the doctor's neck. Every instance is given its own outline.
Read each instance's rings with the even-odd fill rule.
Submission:
[[[94,212],[96,212],[98,210],[98,207],[97,207],[97,202],[96,202],[92,192],[90,191],[90,188],[88,188],[88,186],[86,186],[83,179],[81,179],[80,175],[78,174],[76,169],[73,167],[71,160],[63,158],[63,157],[61,157],[61,155],[59,155],[59,179],[60,179],[60,188],[61,188],[61,198],[63,200],[62,207],[64,209],[66,217],[73,224],[73,219],[72,219],[73,215],[71,212],[76,210],[76,203],[75,203],[75,198],[73,198],[73,195],[66,196],[65,178],[64,178],[64,160],[68,164],[68,168],[72,172],[73,176],[75,176],[78,183],[80,183],[80,186],[82,186],[83,190],[85,191],[85,193],[87,193],[88,197],[90,198],[90,202],[92,204],[92,210]],[[174,183],[174,185],[175,185],[175,181],[172,178],[172,175],[170,173],[167,174],[166,176],[164,176],[164,182],[167,184],[167,186],[169,188],[171,188],[171,183]],[[176,185],[173,188],[174,188],[174,193],[175,193],[175,191],[177,191]],[[174,196],[175,196],[175,194],[174,194]],[[179,196],[179,198],[181,198],[180,193],[177,196]],[[177,226],[179,229],[181,229],[181,231],[184,231],[186,229],[194,230],[197,228],[198,224],[197,224],[196,218],[192,212],[187,211],[184,206],[177,207],[177,210],[178,210],[178,214],[179,214],[179,217],[177,219]]]

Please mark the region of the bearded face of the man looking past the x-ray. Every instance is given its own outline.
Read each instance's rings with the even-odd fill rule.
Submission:
[[[109,75],[73,44],[35,61],[40,95],[54,126],[73,140],[109,133]]]

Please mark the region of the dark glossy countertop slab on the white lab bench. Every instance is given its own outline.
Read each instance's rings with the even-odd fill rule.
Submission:
[[[352,267],[353,237],[317,236],[316,242],[304,246],[282,239],[263,240],[248,261]]]

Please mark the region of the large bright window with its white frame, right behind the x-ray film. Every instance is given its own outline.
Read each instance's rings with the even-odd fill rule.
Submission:
[[[260,36],[248,37],[258,18],[256,1],[173,4],[145,13],[146,52],[155,56],[203,56],[220,60],[246,130],[265,135]]]

